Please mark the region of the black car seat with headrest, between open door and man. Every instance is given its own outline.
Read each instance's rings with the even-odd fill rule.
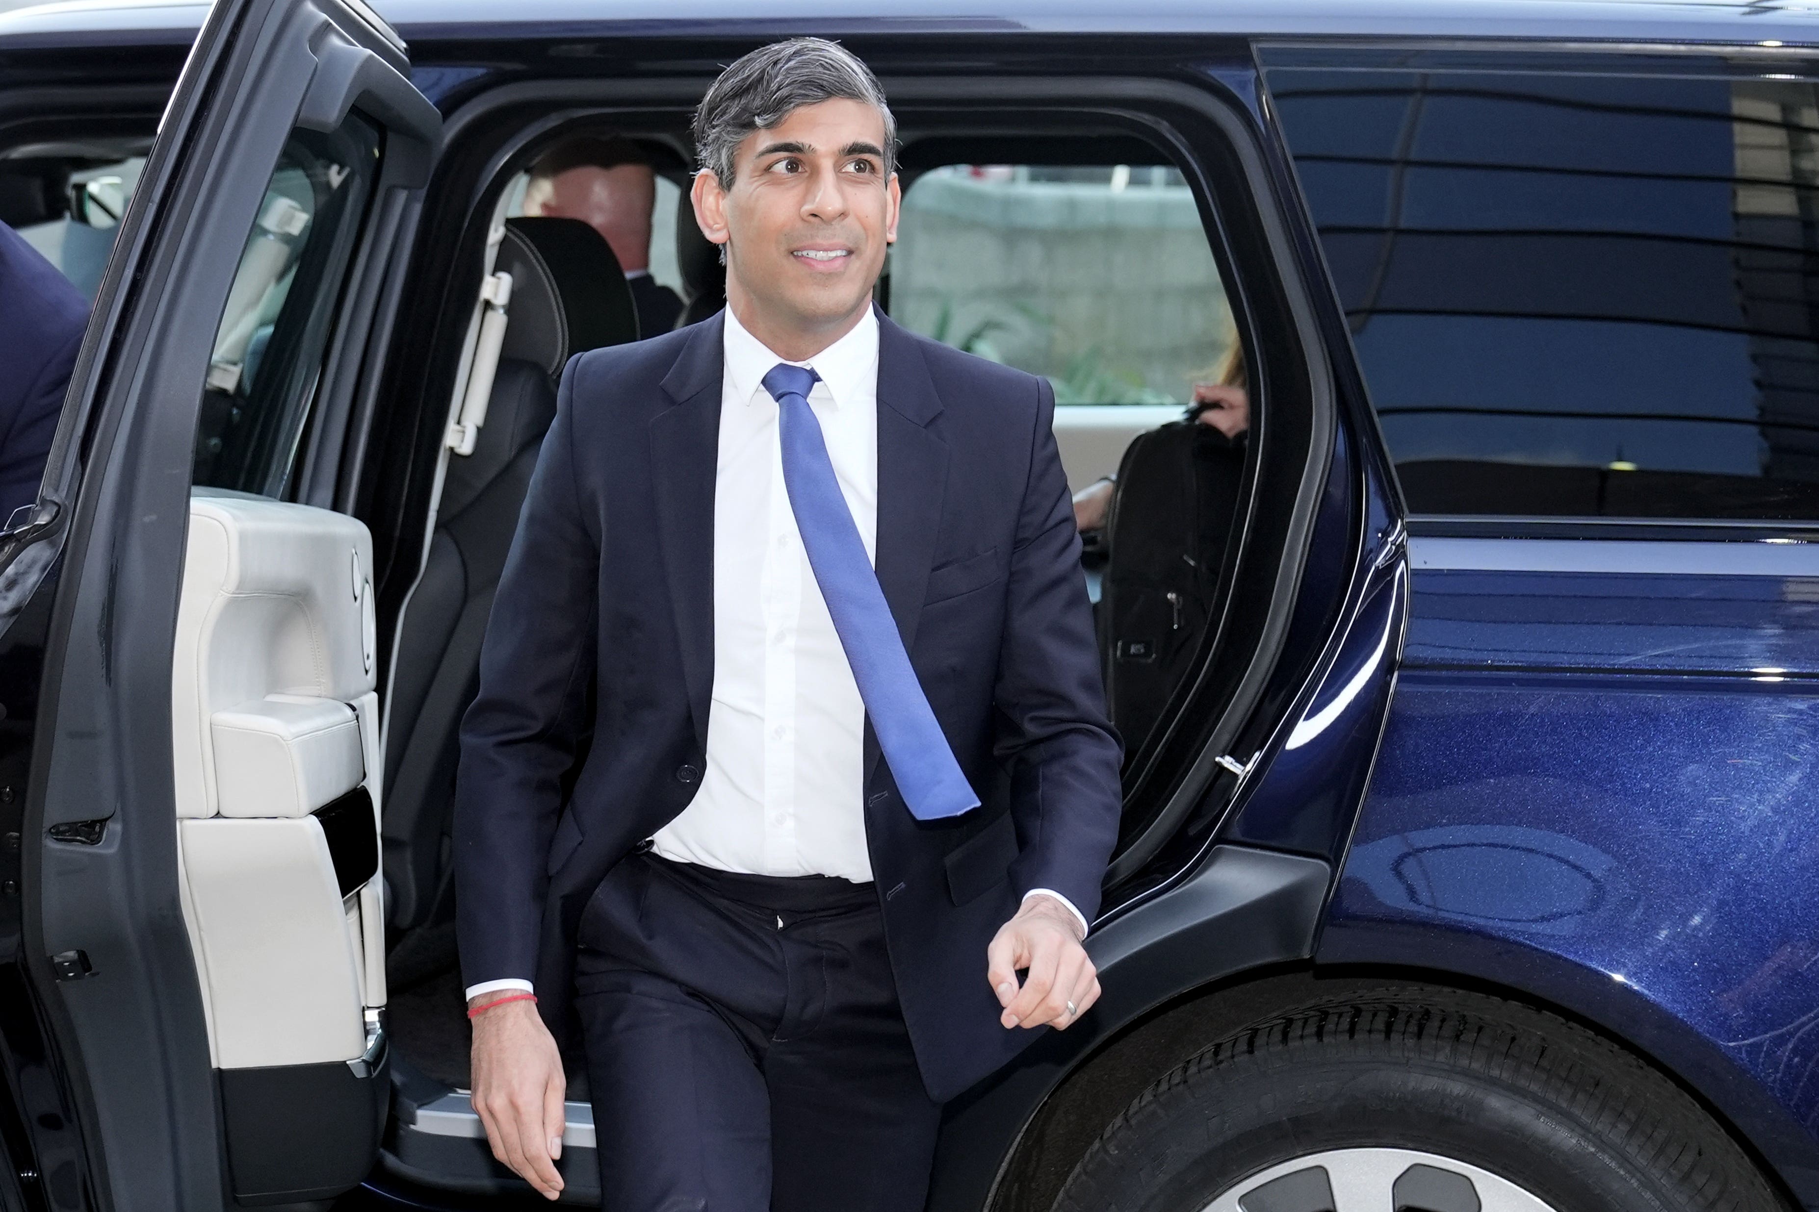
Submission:
[[[571,354],[638,338],[626,274],[606,240],[571,218],[515,218],[495,269],[511,307],[486,425],[451,454],[424,574],[404,609],[386,741],[386,909],[424,925],[449,870],[457,732],[478,689],[480,638],[518,511],[557,414]]]

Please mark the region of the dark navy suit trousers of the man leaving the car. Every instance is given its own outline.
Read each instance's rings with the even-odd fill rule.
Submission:
[[[922,1212],[940,1107],[873,885],[637,852],[578,939],[602,1207]]]

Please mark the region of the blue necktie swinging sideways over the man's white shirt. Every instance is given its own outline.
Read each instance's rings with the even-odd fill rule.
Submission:
[[[815,571],[833,631],[859,683],[859,698],[866,703],[871,730],[891,763],[910,814],[922,821],[959,816],[977,809],[979,796],[953,760],[922,683],[910,667],[897,620],[840,496],[820,422],[808,405],[808,392],[819,378],[815,371],[788,362],[764,376],[764,389],[777,400],[784,489],[802,532],[808,567]]]

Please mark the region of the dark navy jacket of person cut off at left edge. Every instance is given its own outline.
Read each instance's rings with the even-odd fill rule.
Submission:
[[[0,527],[38,500],[89,302],[0,224]]]

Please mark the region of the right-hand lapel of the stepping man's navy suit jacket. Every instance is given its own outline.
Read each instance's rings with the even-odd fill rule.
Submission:
[[[942,411],[917,340],[879,314],[877,574],[904,649],[915,651],[948,489],[948,443],[930,423]],[[879,747],[866,729],[866,780]]]

